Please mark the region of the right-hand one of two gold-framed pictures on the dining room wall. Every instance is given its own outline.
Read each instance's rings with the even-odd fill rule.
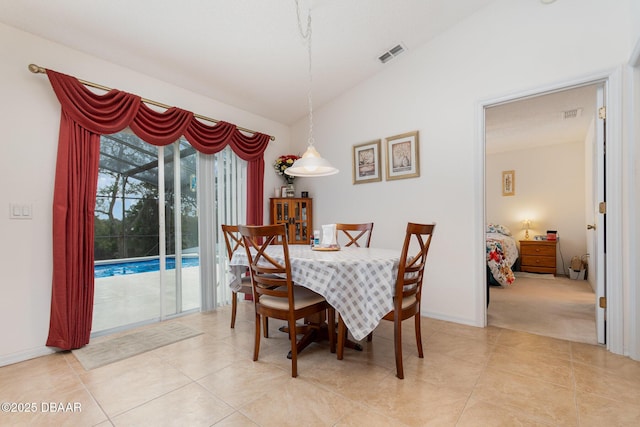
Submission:
[[[420,176],[418,131],[387,138],[387,180]]]

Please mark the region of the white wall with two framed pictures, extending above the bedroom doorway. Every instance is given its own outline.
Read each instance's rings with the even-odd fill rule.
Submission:
[[[482,325],[477,106],[619,67],[630,53],[629,12],[628,0],[499,0],[428,45],[409,46],[382,73],[314,110],[316,148],[342,171],[306,183],[316,220],[374,221],[372,244],[388,247],[401,245],[407,221],[435,221],[424,314]],[[306,126],[294,126],[292,141],[305,140]],[[419,178],[351,184],[354,144],[413,130]]]

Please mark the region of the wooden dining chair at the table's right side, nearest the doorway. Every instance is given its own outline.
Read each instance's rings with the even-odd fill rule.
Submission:
[[[396,376],[404,378],[402,367],[402,321],[411,317],[415,320],[416,345],[418,357],[424,357],[422,352],[422,332],[420,330],[420,302],[422,297],[422,280],[427,253],[431,245],[431,238],[435,224],[408,223],[405,233],[398,275],[395,281],[393,310],[383,319],[394,323],[393,341],[396,356]],[[338,316],[338,359],[344,354],[344,335],[346,325],[342,317]]]

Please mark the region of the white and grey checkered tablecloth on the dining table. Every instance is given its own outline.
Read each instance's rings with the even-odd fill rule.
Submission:
[[[282,247],[267,252],[282,259]],[[313,251],[290,245],[293,281],[325,297],[342,316],[356,340],[365,338],[393,309],[393,287],[400,250],[345,247],[335,252]],[[247,254],[236,251],[230,262],[232,275],[249,265]],[[229,284],[232,288],[237,280]]]

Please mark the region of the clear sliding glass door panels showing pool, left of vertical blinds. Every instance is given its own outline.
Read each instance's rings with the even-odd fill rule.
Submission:
[[[197,156],[184,140],[102,137],[92,333],[199,309]]]

